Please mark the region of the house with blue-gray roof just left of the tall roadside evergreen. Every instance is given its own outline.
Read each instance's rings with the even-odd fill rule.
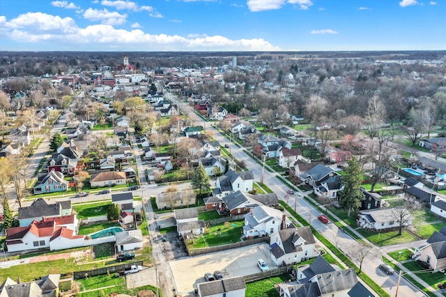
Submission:
[[[341,176],[322,164],[317,164],[300,175],[300,179],[312,186],[316,195],[325,198],[337,198],[337,193],[342,189]]]

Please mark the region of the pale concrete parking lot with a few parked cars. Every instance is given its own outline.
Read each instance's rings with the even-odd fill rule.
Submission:
[[[213,252],[210,254],[178,259],[169,262],[174,275],[177,294],[187,294],[197,288],[197,284],[205,282],[204,273],[222,271],[224,278],[236,275],[249,275],[261,272],[257,260],[263,259],[266,264],[276,268],[270,258],[269,246],[266,243]]]

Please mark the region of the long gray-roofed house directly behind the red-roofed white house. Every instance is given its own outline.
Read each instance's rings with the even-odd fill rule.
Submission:
[[[37,198],[29,207],[20,207],[18,217],[20,227],[29,226],[33,220],[68,216],[71,214],[71,201],[61,201],[48,204],[44,198]]]

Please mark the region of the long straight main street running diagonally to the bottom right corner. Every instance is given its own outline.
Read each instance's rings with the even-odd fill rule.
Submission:
[[[176,97],[174,97],[174,95],[171,95],[170,93],[167,93],[166,96],[168,99],[171,99],[171,101],[176,102],[180,106],[183,106],[183,112],[185,110],[189,110],[190,117],[194,119],[195,125],[203,125],[203,120],[201,120],[201,118],[199,118],[199,116],[192,111],[192,108],[190,106],[183,104],[183,102],[179,102],[178,99],[176,99]],[[213,127],[210,127],[210,125],[206,125],[207,131],[211,129],[215,131]],[[220,141],[222,145],[229,143],[229,141],[218,131],[215,131],[214,137],[215,140]],[[262,168],[258,163],[256,163],[256,161],[254,161],[250,156],[243,152],[240,147],[234,144],[231,144],[231,153],[239,161],[245,161],[246,167],[254,172],[255,182],[259,182],[261,180]],[[264,184],[271,188],[272,191],[277,193],[279,199],[284,200],[284,196],[286,195],[286,190],[288,188],[284,184],[282,184],[282,182],[280,182],[279,179],[275,177],[275,175],[275,173],[265,170]],[[301,193],[301,191],[299,192]],[[297,205],[295,205],[296,200]],[[351,238],[351,236],[348,236],[348,234],[340,232],[339,228],[336,225],[332,223],[326,225],[321,223],[317,219],[317,216],[320,214],[319,211],[314,209],[314,207],[312,207],[312,205],[310,205],[305,200],[295,198],[285,201],[290,205],[290,207],[296,209],[300,216],[308,220],[316,228],[316,230],[319,230],[321,234],[323,234],[325,238],[331,241],[333,244],[335,243],[335,238],[338,238],[339,242],[335,245],[338,246],[342,251],[344,251],[346,255],[348,255],[353,260],[353,262],[355,262],[359,266],[359,263],[355,261],[353,257],[353,250],[359,248],[360,243],[357,243],[357,241]],[[398,275],[385,275],[385,273],[380,271],[380,269],[378,268],[378,265],[382,263],[379,255],[383,255],[385,252],[388,252],[391,249],[392,247],[389,246],[387,246],[385,250],[374,248],[374,252],[371,252],[366,257],[366,259],[364,259],[362,270],[367,273],[367,275],[369,275],[376,283],[380,284],[380,286],[383,287],[389,294],[392,295],[395,294],[396,291]],[[398,248],[395,248],[394,250],[398,250]],[[424,293],[413,287],[412,284],[407,282],[404,278],[401,278],[398,296],[424,296]]]

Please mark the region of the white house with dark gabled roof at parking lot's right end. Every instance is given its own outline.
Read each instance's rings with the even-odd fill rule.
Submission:
[[[318,249],[309,226],[281,229],[270,235],[271,259],[276,266],[316,257]]]

